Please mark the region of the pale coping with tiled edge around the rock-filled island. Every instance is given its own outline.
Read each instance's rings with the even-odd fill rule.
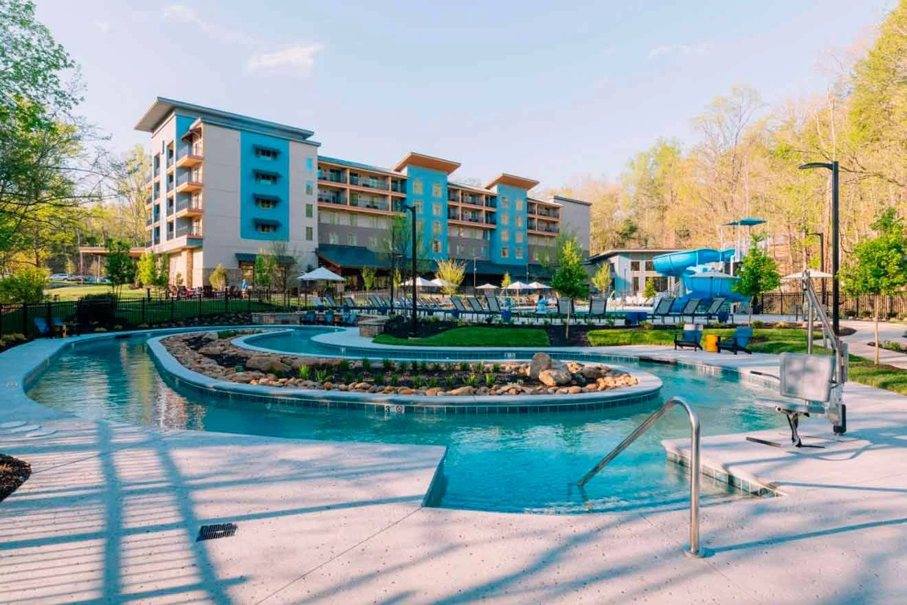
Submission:
[[[269,333],[289,333],[297,328],[268,330]],[[198,330],[209,332],[211,330]],[[574,412],[580,410],[609,409],[621,405],[636,405],[655,399],[660,394],[662,381],[645,370],[625,366],[611,366],[639,380],[636,385],[621,386],[607,391],[577,393],[573,395],[399,395],[335,391],[324,389],[289,388],[286,386],[248,385],[220,380],[193,372],[170,354],[161,340],[172,335],[152,337],[148,340],[151,357],[161,373],[174,381],[177,388],[190,387],[201,394],[221,395],[241,401],[259,401],[278,405],[305,407],[364,408],[392,414],[444,413],[444,414],[526,414],[539,412]],[[242,348],[278,354],[281,356],[331,356],[288,353],[258,346],[250,346],[246,339],[260,337],[248,335],[233,338],[230,342]]]

